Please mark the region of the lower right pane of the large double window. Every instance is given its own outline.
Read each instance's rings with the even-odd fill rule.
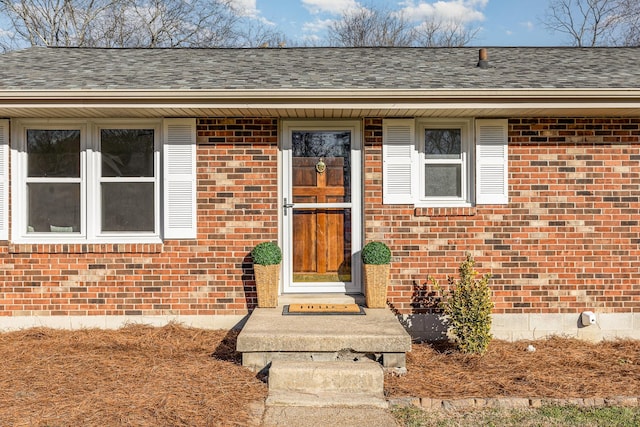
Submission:
[[[152,182],[102,183],[102,231],[154,230]]]

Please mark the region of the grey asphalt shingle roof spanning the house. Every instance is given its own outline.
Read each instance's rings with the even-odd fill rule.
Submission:
[[[92,49],[0,55],[0,90],[640,88],[640,48]]]

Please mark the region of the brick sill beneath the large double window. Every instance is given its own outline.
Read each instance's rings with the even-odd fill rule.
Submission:
[[[162,243],[10,243],[12,254],[158,254]]]

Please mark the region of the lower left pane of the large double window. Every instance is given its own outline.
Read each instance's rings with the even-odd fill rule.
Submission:
[[[27,184],[28,232],[80,231],[80,184]]]

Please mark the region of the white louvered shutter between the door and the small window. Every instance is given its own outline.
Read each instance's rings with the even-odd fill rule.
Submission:
[[[389,119],[382,125],[382,203],[413,204],[418,175],[415,166],[415,121]]]

